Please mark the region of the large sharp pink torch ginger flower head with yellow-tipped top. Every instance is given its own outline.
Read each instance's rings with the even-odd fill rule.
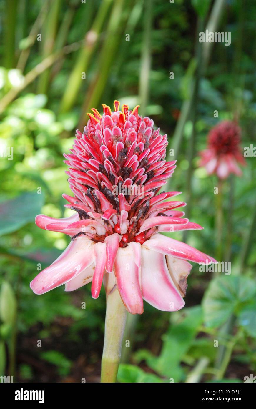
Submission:
[[[119,110],[119,101],[114,106],[112,112],[103,105],[102,116],[92,109],[84,132],[77,130],[71,153],[64,155],[74,197],[63,197],[75,213],[63,219],[38,215],[36,225],[68,234],[71,242],[30,287],[43,294],[62,284],[72,291],[92,281],[97,298],[103,275],[112,274],[131,314],[142,314],[143,300],[159,310],[180,310],[192,267],[188,261],[214,259],[159,234],[202,227],[176,210],[184,202],[164,201],[181,192],[159,193],[176,167],[164,159],[167,136],[138,114],[138,106],[132,111],[127,105]]]

